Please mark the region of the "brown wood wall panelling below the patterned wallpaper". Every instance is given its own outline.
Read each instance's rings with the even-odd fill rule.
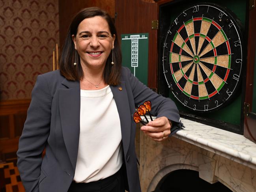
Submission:
[[[0,102],[0,161],[18,149],[30,99]]]

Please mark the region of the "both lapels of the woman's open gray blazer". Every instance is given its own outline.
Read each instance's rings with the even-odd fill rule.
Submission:
[[[75,170],[80,134],[80,84],[64,79],[66,88],[59,90],[60,119],[67,153]],[[131,137],[131,114],[125,82],[110,86],[116,102],[121,124],[123,151],[127,155]]]

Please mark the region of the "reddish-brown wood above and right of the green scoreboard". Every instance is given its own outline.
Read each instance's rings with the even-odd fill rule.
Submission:
[[[142,0],[116,0],[115,24],[121,34],[148,33],[148,87],[157,88],[157,30],[151,21],[157,20],[157,3]]]

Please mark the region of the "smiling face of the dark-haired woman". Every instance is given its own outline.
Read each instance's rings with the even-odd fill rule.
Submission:
[[[72,35],[82,67],[105,67],[107,58],[114,47],[115,35],[111,36],[107,21],[101,16],[84,19]]]

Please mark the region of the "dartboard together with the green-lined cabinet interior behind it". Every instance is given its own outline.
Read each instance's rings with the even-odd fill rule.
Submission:
[[[158,89],[181,116],[242,134],[246,5],[231,3],[159,6]]]

